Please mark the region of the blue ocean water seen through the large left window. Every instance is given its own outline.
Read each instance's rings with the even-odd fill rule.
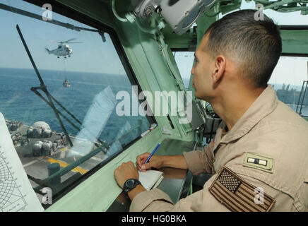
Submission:
[[[40,70],[40,74],[45,85],[47,85],[49,93],[81,122],[83,122],[89,108],[93,105],[95,96],[105,88],[111,88],[113,95],[116,95],[121,90],[127,91],[131,95],[131,84],[127,76],[124,75],[48,70]],[[63,87],[64,79],[71,83],[70,88]],[[31,87],[38,86],[40,86],[40,81],[33,69],[0,68],[0,112],[4,114],[6,119],[22,121],[23,124],[29,126],[35,121],[46,121],[52,131],[62,131],[52,108],[30,90]],[[47,98],[45,93],[41,90],[39,92]],[[54,105],[61,110],[57,104]],[[62,110],[61,112],[65,113]],[[64,115],[71,119],[68,114],[65,113]],[[151,123],[146,117],[142,116],[119,117],[114,108],[100,138],[107,142],[112,141],[117,137],[118,131],[125,125],[126,128],[138,126],[138,123],[140,123],[138,120],[142,121],[141,130],[135,129],[124,137],[122,144],[134,140],[140,135],[140,132],[150,128]],[[78,134],[78,131],[71,124],[66,120],[63,121],[69,134]],[[73,122],[78,127],[81,127],[76,121]],[[127,127],[127,124],[130,126]]]

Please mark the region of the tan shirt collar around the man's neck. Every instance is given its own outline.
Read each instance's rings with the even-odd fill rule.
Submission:
[[[232,129],[222,137],[226,124],[224,121],[216,131],[214,150],[219,143],[230,143],[247,134],[261,119],[273,112],[278,105],[278,98],[275,90],[268,85],[258,98],[252,103],[242,117],[235,123]]]

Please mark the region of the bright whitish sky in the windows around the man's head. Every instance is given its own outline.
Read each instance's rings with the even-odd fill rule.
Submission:
[[[249,3],[242,1],[241,9],[254,8],[254,5],[254,1]],[[266,16],[272,18],[278,25],[308,25],[308,15],[300,15],[299,11],[293,13],[278,13],[271,9],[267,9],[264,13]],[[220,13],[220,18],[221,17],[222,15]],[[191,66],[194,61],[194,52],[177,52],[175,59],[182,78],[190,78]],[[189,64],[184,64],[184,61],[187,60]],[[307,57],[280,57],[269,83],[302,85],[302,81],[308,79],[307,61]]]

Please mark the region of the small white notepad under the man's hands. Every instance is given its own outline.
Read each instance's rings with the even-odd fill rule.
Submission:
[[[164,179],[162,172],[158,170],[139,171],[139,181],[148,191],[157,187],[162,182],[162,179]]]

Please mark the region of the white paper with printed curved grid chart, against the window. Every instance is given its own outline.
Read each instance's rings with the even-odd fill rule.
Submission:
[[[0,212],[43,211],[0,112]]]

